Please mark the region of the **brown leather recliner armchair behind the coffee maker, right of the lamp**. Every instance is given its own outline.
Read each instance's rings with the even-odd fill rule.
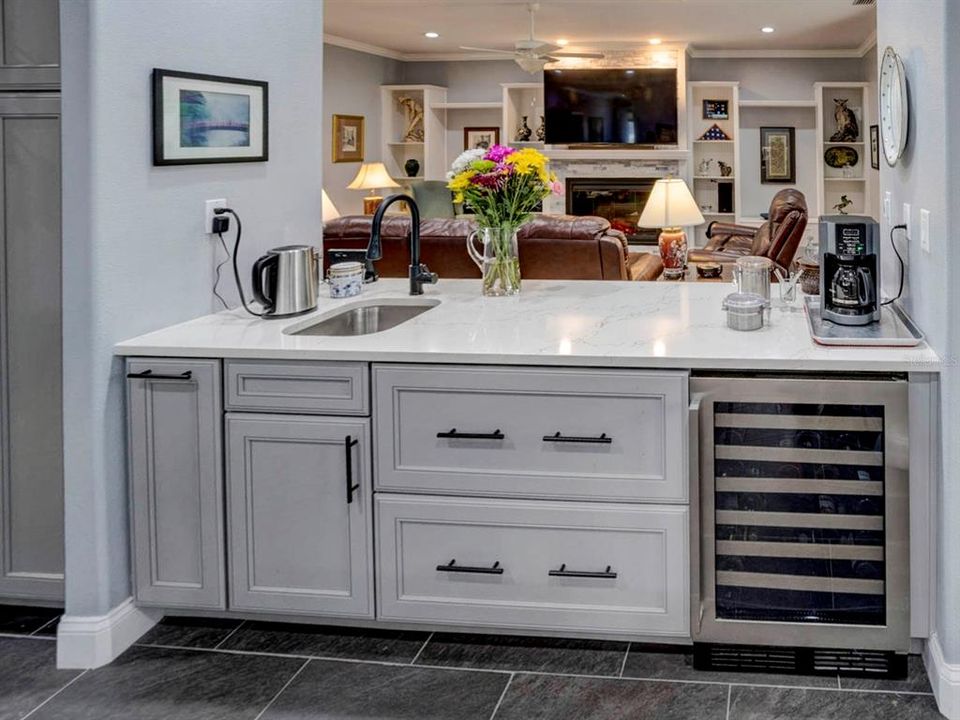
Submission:
[[[691,249],[690,262],[736,262],[743,255],[762,255],[789,270],[807,229],[807,200],[795,188],[781,190],[770,202],[770,219],[759,228],[713,222],[707,244]]]

